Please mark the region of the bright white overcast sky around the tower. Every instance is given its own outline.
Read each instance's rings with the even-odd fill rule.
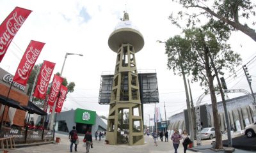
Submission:
[[[120,18],[123,18],[123,11],[129,13],[130,20],[144,36],[145,45],[136,54],[136,64],[138,69],[156,69],[160,99],[156,106],[160,107],[162,118],[164,119],[164,101],[167,117],[186,109],[182,77],[173,75],[173,72],[167,69],[164,44],[156,43],[156,40],[166,41],[180,34],[180,29],[168,20],[172,12],[182,9],[179,4],[170,0],[0,0],[0,23],[15,6],[32,12],[8,48],[0,63],[1,68],[14,75],[31,40],[45,43],[36,64],[44,60],[55,62],[54,73],[61,71],[66,52],[84,55],[67,57],[63,77],[66,77],[68,82],[75,82],[76,87],[75,92],[67,95],[63,111],[83,108],[95,110],[98,115],[108,115],[109,106],[98,103],[100,75],[103,71],[115,69],[116,53],[108,47],[108,37]],[[252,20],[255,18],[250,18],[246,22]],[[230,44],[233,50],[241,54],[243,64],[256,55],[255,41],[241,32],[232,33]],[[255,66],[255,60],[248,66],[253,76],[254,91]],[[233,78],[234,75],[231,73],[224,75],[228,88],[250,91],[241,66],[236,69],[237,78]],[[229,77],[230,75],[232,77]],[[196,103],[198,96],[204,91],[198,84],[191,84],[191,90],[193,101]],[[228,94],[230,98],[242,95]],[[211,103],[209,96],[206,96],[202,103]],[[144,112],[145,123],[148,124],[148,114],[153,117],[154,105],[144,105]]]

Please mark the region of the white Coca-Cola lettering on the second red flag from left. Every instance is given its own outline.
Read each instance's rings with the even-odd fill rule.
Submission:
[[[22,80],[27,80],[29,71],[33,68],[39,54],[40,50],[33,49],[33,47],[30,47],[28,52],[26,52],[26,61],[23,66],[20,66],[21,68],[18,68],[18,75]]]

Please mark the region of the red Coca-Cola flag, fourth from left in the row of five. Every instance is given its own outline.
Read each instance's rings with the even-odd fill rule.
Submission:
[[[52,88],[51,88],[49,98],[48,98],[48,104],[50,106],[54,106],[54,103],[55,103],[56,99],[58,98],[58,94],[59,94],[62,82],[63,82],[63,78],[61,78],[58,75],[54,75],[53,80],[52,80]]]

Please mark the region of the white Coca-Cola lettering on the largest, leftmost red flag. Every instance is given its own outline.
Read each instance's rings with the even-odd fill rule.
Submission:
[[[6,45],[12,42],[13,36],[19,31],[20,26],[24,23],[26,18],[19,15],[17,17],[17,12],[15,11],[12,17],[6,22],[6,31],[0,36],[0,55],[6,52]]]

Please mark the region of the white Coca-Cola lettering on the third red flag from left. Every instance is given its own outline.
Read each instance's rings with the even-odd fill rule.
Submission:
[[[41,75],[41,80],[39,85],[37,85],[37,89],[38,92],[40,92],[40,94],[45,94],[45,92],[47,91],[47,87],[49,84],[49,80],[51,78],[51,73],[52,73],[52,68],[49,68],[47,66],[44,65],[44,68],[42,68],[42,71],[40,73]]]

